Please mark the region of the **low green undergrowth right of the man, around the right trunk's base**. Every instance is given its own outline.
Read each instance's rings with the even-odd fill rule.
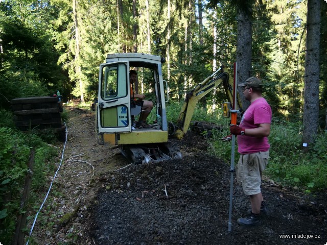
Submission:
[[[312,149],[305,153],[301,150],[299,124],[273,126],[269,136],[271,151],[267,174],[276,181],[307,192],[327,188],[326,135],[326,132],[318,135]]]

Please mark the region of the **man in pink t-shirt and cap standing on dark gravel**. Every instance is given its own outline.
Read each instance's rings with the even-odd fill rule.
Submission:
[[[254,226],[260,223],[260,213],[266,212],[265,201],[261,193],[262,171],[269,158],[268,138],[271,124],[271,108],[262,97],[262,82],[251,77],[242,87],[249,108],[244,112],[240,126],[231,125],[230,133],[238,135],[238,152],[241,154],[237,165],[237,181],[242,183],[243,191],[250,197],[249,216],[239,218],[237,223]]]

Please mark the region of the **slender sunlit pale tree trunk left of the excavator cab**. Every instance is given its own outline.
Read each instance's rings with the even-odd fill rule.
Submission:
[[[76,79],[78,80],[81,92],[81,101],[84,102],[84,94],[83,94],[83,82],[81,79],[81,67],[79,65],[80,60],[80,31],[79,31],[79,23],[78,23],[78,16],[77,16],[77,5],[76,0],[73,0],[73,14],[74,14],[74,24],[75,24],[75,72],[76,72]]]

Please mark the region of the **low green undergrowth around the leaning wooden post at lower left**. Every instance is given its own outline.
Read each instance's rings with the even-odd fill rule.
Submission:
[[[36,150],[31,189],[33,192],[44,188],[46,176],[53,172],[51,161],[57,151],[43,143],[35,134],[0,128],[0,240],[5,244],[10,243],[15,231],[15,217],[26,211],[19,206],[32,148]]]

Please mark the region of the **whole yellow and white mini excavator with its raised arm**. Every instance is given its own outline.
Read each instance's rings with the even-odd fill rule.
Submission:
[[[166,104],[169,100],[167,82],[162,79],[159,56],[147,54],[109,54],[100,64],[99,93],[96,105],[96,133],[99,144],[121,145],[122,154],[132,163],[147,163],[163,159],[181,159],[169,137],[181,139],[188,131],[197,102],[221,83],[229,103],[233,103],[233,77],[226,67],[207,77],[186,95],[176,125],[167,122]],[[142,71],[144,83],[151,84],[155,95],[153,104],[157,122],[152,128],[136,128],[134,118],[142,106],[131,97],[129,70]],[[238,100],[236,108],[241,111]]]

